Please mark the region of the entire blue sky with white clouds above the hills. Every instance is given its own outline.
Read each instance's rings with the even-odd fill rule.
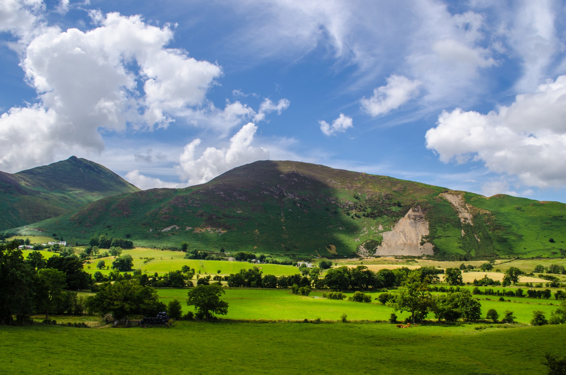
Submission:
[[[566,202],[561,1],[0,4],[0,170],[299,160]]]

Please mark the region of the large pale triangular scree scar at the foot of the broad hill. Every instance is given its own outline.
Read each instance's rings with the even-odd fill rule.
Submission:
[[[375,255],[433,255],[432,244],[421,245],[422,236],[428,235],[428,221],[421,207],[413,207],[399,219],[389,232],[381,233],[383,241]]]

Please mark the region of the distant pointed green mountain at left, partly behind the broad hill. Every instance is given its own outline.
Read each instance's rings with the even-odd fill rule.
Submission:
[[[0,172],[0,231],[134,191],[139,189],[110,169],[76,156],[14,174]]]

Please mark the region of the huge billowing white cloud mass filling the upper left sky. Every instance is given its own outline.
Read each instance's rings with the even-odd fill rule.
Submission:
[[[19,31],[17,20],[33,29],[37,19],[29,8],[38,5],[28,3],[8,9],[15,20],[4,26],[6,31],[27,35]],[[4,8],[11,4],[2,2]],[[4,8],[0,15],[11,20],[2,13]],[[213,63],[166,48],[173,38],[168,25],[159,28],[140,16],[118,13],[91,16],[99,26],[89,31],[41,27],[40,35],[29,41],[20,65],[37,92],[37,103],[2,114],[1,170],[45,164],[61,148],[100,152],[102,129],[166,127],[173,116],[203,104],[208,88],[221,75]],[[41,141],[33,142],[36,138]]]

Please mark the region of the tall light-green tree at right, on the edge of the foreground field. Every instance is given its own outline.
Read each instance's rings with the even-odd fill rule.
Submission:
[[[421,280],[417,270],[409,272],[397,293],[387,302],[388,306],[398,311],[411,313],[411,321],[426,317],[431,306],[432,296],[428,288],[428,279]]]

